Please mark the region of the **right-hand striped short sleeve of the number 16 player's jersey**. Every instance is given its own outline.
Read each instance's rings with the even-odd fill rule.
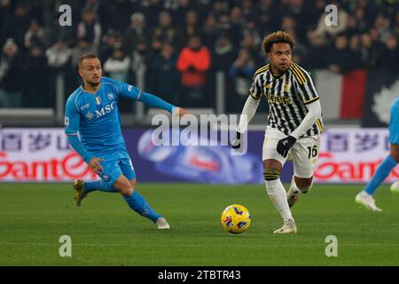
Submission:
[[[318,94],[309,72],[295,65],[295,67],[293,67],[293,74],[296,81],[296,90],[300,94],[303,103],[309,105],[317,101],[317,99],[319,99]]]

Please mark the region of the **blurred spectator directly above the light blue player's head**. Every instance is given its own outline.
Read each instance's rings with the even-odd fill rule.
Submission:
[[[101,26],[96,19],[96,14],[90,10],[84,10],[82,21],[77,27],[77,39],[90,42],[93,51],[98,51],[98,45],[101,40]]]

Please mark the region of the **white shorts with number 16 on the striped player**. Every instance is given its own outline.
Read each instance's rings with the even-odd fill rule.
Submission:
[[[278,140],[286,138],[280,130],[268,127],[265,131],[262,161],[277,160],[284,166],[287,158],[293,160],[293,174],[295,177],[313,177],[316,168],[317,156],[320,148],[320,134],[311,137],[299,138],[288,152],[286,158],[277,152]]]

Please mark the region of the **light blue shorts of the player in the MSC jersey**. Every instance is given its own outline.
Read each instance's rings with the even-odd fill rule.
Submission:
[[[96,157],[104,159],[103,162],[100,162],[103,170],[98,171],[97,174],[107,185],[113,185],[121,175],[129,180],[136,178],[135,169],[126,149],[121,149],[113,154],[98,154]]]

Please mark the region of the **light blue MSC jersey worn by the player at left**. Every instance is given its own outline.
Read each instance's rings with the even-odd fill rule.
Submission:
[[[107,154],[125,147],[121,134],[118,99],[137,99],[141,91],[127,83],[102,77],[97,93],[84,91],[82,86],[66,101],[66,134],[79,131],[82,146],[90,153]]]

